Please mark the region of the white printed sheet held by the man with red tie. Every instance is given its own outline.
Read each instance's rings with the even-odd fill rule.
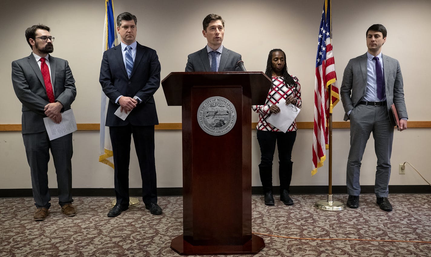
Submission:
[[[51,118],[44,118],[44,124],[50,140],[65,136],[78,129],[72,109],[64,111],[61,117],[61,122],[58,124],[51,120]]]

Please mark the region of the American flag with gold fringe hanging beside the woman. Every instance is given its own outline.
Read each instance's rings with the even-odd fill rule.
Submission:
[[[331,0],[325,0],[317,43],[314,90],[313,169],[311,175],[317,173],[317,168],[322,167],[326,159],[329,132],[329,86],[332,88],[331,99],[333,106],[340,101],[334,55],[332,53],[331,32]]]

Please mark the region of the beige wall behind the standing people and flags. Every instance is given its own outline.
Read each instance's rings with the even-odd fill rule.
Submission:
[[[127,3],[127,5],[126,5]],[[0,101],[0,124],[21,122],[21,103],[16,99],[10,80],[13,60],[28,56],[30,47],[24,31],[33,24],[51,27],[56,37],[53,56],[67,59],[74,74],[77,98],[72,105],[78,123],[98,123],[104,5],[102,0],[45,1],[44,6],[24,0],[3,4],[0,77],[5,94]],[[46,7],[45,7],[46,6]],[[226,1],[114,1],[115,13],[129,11],[137,16],[137,41],[157,50],[162,65],[161,77],[172,71],[184,71],[187,54],[206,44],[202,19],[209,12],[225,19],[223,44],[243,56],[248,71],[263,71],[269,50],[281,48],[287,54],[289,73],[300,79],[303,107],[297,121],[313,120],[314,68],[317,32],[323,0],[248,0]],[[370,7],[367,7],[370,6]],[[375,11],[373,11],[374,9]],[[431,2],[414,0],[340,1],[332,7],[333,46],[337,77],[341,84],[349,59],[366,51],[365,31],[373,23],[388,30],[383,53],[400,61],[405,82],[409,121],[431,121],[428,98],[428,47],[431,36]],[[181,122],[181,108],[167,106],[160,88],[156,95],[159,121]],[[252,114],[253,121],[257,115]],[[341,103],[334,108],[334,121],[342,121]],[[260,185],[257,164],[259,146],[252,133],[253,186]],[[78,131],[73,135],[73,186],[76,188],[113,187],[112,169],[98,160],[99,133]],[[362,185],[374,184],[375,155],[370,139],[362,162]],[[327,185],[328,162],[310,176],[312,130],[300,130],[294,146],[292,185]],[[430,129],[395,132],[392,153],[393,173],[390,185],[420,185],[425,182],[412,169],[398,174],[398,164],[409,161],[431,180],[429,169]],[[333,184],[345,185],[345,167],[349,149],[349,130],[334,130]],[[132,149],[134,151],[134,149]],[[277,155],[277,154],[276,154]],[[132,154],[130,186],[140,187],[136,155]],[[275,157],[275,163],[277,157]],[[0,132],[0,188],[31,188],[22,137],[19,132]],[[181,187],[181,131],[156,131],[156,168],[158,187]],[[277,167],[274,184],[278,185]],[[50,187],[56,187],[55,171],[50,163]]]

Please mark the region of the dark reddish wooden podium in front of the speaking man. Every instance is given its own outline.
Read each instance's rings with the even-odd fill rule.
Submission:
[[[172,72],[162,87],[168,105],[182,106],[184,224],[171,248],[256,254],[265,243],[251,230],[251,105],[265,103],[271,80],[262,72]],[[236,109],[234,126],[220,136],[198,121],[200,105],[214,96]]]

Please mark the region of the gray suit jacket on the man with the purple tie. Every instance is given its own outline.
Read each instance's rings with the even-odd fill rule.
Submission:
[[[384,69],[384,85],[386,91],[387,111],[390,123],[395,126],[395,121],[390,111],[393,103],[398,111],[398,116],[408,118],[406,103],[404,102],[403,75],[400,63],[389,56],[382,54]],[[344,69],[343,82],[341,83],[340,95],[345,111],[344,121],[349,117],[347,112],[352,110],[362,101],[367,88],[367,54],[350,59]]]

